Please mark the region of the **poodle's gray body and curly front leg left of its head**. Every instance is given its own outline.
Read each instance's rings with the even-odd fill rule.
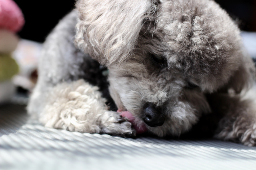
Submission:
[[[133,135],[131,123],[108,111],[106,99],[94,86],[101,81],[102,73],[99,64],[73,43],[76,19],[76,12],[71,12],[44,43],[38,83],[30,97],[28,113],[46,127]]]

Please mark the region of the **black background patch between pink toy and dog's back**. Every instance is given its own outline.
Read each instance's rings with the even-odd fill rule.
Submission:
[[[44,42],[58,21],[70,12],[76,0],[14,0],[21,8],[25,25],[18,33],[21,38]]]

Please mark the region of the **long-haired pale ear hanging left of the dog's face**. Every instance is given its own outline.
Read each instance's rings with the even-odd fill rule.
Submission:
[[[79,0],[76,45],[103,65],[122,63],[140,29],[156,10],[154,0]]]

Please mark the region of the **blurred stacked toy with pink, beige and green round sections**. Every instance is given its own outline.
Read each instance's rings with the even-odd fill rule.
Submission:
[[[24,17],[12,0],[0,0],[0,103],[8,101],[15,92],[12,77],[19,67],[12,58],[19,38],[16,33],[23,27]]]

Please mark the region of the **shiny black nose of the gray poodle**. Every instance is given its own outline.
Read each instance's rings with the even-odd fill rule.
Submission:
[[[144,117],[143,121],[150,127],[157,127],[164,124],[165,117],[162,115],[162,109],[156,107],[152,103],[146,103],[144,106]]]

